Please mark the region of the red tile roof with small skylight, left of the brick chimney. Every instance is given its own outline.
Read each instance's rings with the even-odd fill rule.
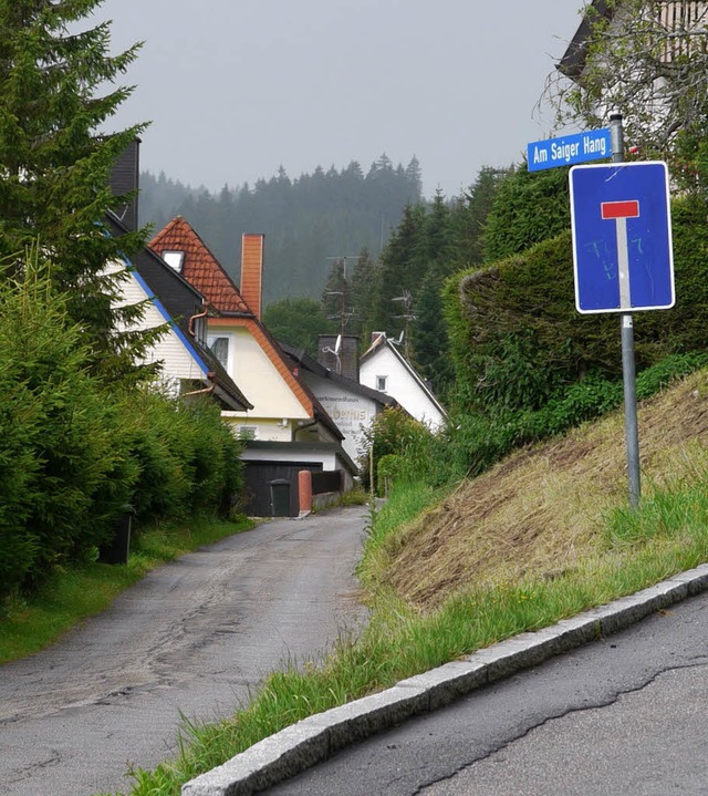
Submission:
[[[181,216],[173,220],[149,242],[160,257],[165,251],[184,251],[181,276],[220,312],[252,314],[231,277],[209,251],[204,240]]]

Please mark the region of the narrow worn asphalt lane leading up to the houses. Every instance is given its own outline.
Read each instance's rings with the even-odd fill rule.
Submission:
[[[270,520],[152,572],[51,649],[0,668],[0,794],[127,790],[283,662],[361,627],[365,508]]]

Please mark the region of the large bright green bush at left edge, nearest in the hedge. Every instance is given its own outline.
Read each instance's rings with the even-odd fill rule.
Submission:
[[[137,468],[122,417],[87,370],[83,330],[28,258],[0,286],[0,591],[86,555]]]

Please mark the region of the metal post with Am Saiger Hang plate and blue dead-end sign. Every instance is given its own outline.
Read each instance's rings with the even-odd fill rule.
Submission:
[[[574,164],[612,157],[611,164]],[[528,145],[530,172],[570,170],[575,306],[618,312],[622,332],[629,504],[639,503],[639,435],[634,361],[634,310],[674,306],[674,260],[665,163],[624,163],[622,116],[597,130]]]

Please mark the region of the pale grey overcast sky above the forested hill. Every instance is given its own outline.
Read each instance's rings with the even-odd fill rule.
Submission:
[[[116,128],[143,170],[195,187],[420,162],[457,196],[546,138],[545,80],[583,0],[105,0],[113,51],[144,41]]]

